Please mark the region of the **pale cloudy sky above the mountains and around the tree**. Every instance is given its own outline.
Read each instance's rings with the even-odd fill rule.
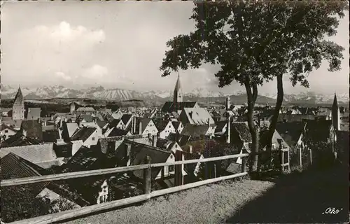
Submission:
[[[173,90],[177,73],[161,77],[166,42],[195,29],[193,2],[184,1],[15,1],[1,2],[1,83],[3,85],[64,85],[130,90]],[[310,88],[286,93],[349,92],[349,13],[337,36],[344,46],[342,71],[328,64],[309,74]],[[244,90],[239,84],[219,88],[218,66],[179,71],[184,92],[195,88],[223,93]],[[272,81],[259,87],[273,94]]]

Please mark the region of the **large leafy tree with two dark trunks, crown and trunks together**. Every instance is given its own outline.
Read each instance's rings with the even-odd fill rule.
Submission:
[[[309,87],[307,73],[323,59],[339,69],[343,48],[325,41],[336,34],[345,1],[216,1],[195,2],[195,31],[167,42],[162,76],[203,63],[219,64],[219,87],[232,81],[246,89],[248,127],[253,138],[251,167],[258,165],[259,134],[253,122],[258,85],[277,80],[276,109],[264,142],[271,145],[283,102],[283,76]],[[267,147],[271,148],[271,147]]]

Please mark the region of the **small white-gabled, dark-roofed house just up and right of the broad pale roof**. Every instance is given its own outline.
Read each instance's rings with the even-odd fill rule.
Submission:
[[[90,146],[97,145],[99,138],[102,137],[102,131],[96,127],[81,127],[71,137],[71,141],[83,141],[83,146],[90,148]]]

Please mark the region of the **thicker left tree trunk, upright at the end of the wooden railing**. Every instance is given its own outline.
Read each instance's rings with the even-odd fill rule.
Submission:
[[[248,101],[248,128],[251,132],[252,144],[251,144],[251,155],[249,168],[251,171],[256,171],[258,169],[258,151],[259,151],[259,134],[255,127],[253,117],[254,117],[254,105],[256,98],[258,97],[258,87],[253,84],[253,92],[251,91],[251,85],[247,81],[244,85],[246,87],[246,96]]]

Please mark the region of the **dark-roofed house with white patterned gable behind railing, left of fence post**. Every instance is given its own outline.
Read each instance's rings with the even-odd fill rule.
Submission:
[[[116,166],[113,158],[108,158],[97,146],[81,146],[68,162],[62,166],[62,173],[80,172],[93,169],[107,169]],[[101,204],[113,200],[109,182],[113,177],[87,176],[81,179],[69,179],[65,183],[90,204]]]

